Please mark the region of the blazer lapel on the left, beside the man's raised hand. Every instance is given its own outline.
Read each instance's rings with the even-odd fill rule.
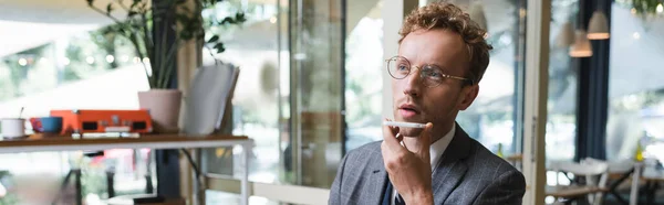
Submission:
[[[377,154],[377,159],[373,159],[369,163],[370,177],[367,183],[371,188],[367,191],[366,197],[369,202],[366,204],[381,204],[387,185],[387,171],[385,171],[385,166],[383,165],[383,155]],[[364,201],[363,198],[359,199],[361,202]]]

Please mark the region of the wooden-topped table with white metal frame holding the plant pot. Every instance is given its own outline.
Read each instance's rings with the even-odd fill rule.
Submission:
[[[249,203],[249,152],[253,140],[246,136],[186,136],[186,134],[144,134],[123,138],[82,138],[66,136],[33,134],[24,139],[0,141],[0,153],[77,151],[108,149],[190,149],[241,145],[241,161],[245,172],[241,179],[241,202]]]

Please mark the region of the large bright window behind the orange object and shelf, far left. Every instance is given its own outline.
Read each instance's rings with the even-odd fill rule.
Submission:
[[[148,89],[144,60],[134,55],[124,39],[104,34],[107,28],[0,21],[0,29],[2,44],[11,44],[0,47],[1,118],[42,117],[51,109],[135,109],[137,91]],[[145,193],[146,183],[152,182],[143,177],[149,174],[148,152],[141,150],[138,160],[132,150],[107,150],[95,158],[82,152],[0,154],[0,184],[9,190],[0,204],[44,204],[34,201],[52,196],[73,168],[83,171],[87,203],[108,196],[106,171],[115,173],[116,194]]]

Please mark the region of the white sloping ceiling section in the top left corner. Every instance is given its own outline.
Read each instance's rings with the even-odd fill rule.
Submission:
[[[110,1],[94,4],[105,8]],[[0,57],[108,23],[86,0],[0,0]]]

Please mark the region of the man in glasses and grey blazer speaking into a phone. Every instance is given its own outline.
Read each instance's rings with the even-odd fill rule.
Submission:
[[[486,31],[449,3],[413,11],[387,60],[396,121],[383,141],[350,151],[330,204],[521,204],[523,175],[455,122],[473,104],[491,46]],[[387,120],[387,119],[386,119]]]

